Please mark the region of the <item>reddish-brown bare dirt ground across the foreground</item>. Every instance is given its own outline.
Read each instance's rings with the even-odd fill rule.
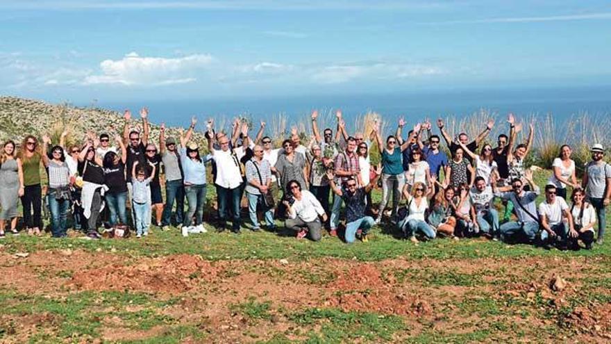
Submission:
[[[304,309],[398,316],[405,331],[394,333],[390,341],[478,329],[494,334],[489,341],[551,342],[555,336],[611,341],[611,292],[605,285],[611,281],[611,267],[606,257],[206,261],[192,255],[136,258],[63,250],[25,257],[0,254],[0,261],[4,293],[62,298],[87,290],[115,290],[176,300],[157,313],[180,324],[199,324],[208,343],[267,341],[277,334],[303,340],[305,332],[296,331],[303,325],[296,325],[290,314]],[[586,294],[606,298],[582,297]],[[269,302],[269,309],[264,317],[249,315],[235,307],[245,302]],[[53,313],[25,312],[0,320],[8,318],[16,325],[3,342],[28,341],[32,326],[44,324],[37,331],[53,332],[61,322]],[[117,316],[101,322],[103,341],[154,338],[165,330],[162,325],[122,327]],[[321,330],[319,323],[305,327]],[[182,340],[190,341],[197,342]]]

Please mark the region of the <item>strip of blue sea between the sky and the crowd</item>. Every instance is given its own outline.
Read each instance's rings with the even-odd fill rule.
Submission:
[[[122,111],[126,108],[134,114],[142,106],[148,106],[153,122],[165,122],[171,126],[187,126],[192,115],[201,122],[215,118],[217,123],[228,123],[237,115],[246,115],[254,122],[283,115],[290,126],[296,122],[308,123],[312,109],[330,113],[341,108],[346,125],[351,127],[358,115],[375,111],[384,120],[396,123],[405,117],[408,124],[415,124],[425,117],[455,117],[460,120],[480,109],[489,110],[499,117],[509,112],[518,117],[555,117],[558,127],[573,116],[588,113],[590,117],[611,116],[611,86],[525,88],[488,90],[413,91],[394,94],[360,95],[303,95],[299,97],[258,97],[236,99],[186,99],[186,100],[133,100],[103,101],[97,106]],[[327,117],[329,118],[329,117]]]

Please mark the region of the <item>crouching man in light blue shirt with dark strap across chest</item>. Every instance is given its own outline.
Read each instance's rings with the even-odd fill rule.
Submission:
[[[521,179],[511,181],[511,186],[499,188],[496,183],[492,183],[494,197],[507,199],[516,210],[518,220],[505,222],[501,225],[501,240],[515,242],[526,240],[532,243],[539,232],[539,218],[537,217],[537,206],[535,199],[539,195],[539,186],[533,181],[533,171],[526,170],[526,181],[530,185],[531,191],[524,190]],[[512,191],[509,191],[512,190]]]

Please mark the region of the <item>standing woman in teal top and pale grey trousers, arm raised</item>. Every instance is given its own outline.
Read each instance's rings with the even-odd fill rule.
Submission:
[[[379,224],[382,221],[384,208],[386,208],[391,193],[392,219],[396,218],[396,212],[399,209],[399,202],[401,201],[401,191],[405,185],[405,174],[403,174],[401,153],[405,149],[408,149],[410,141],[405,140],[403,145],[399,146],[396,137],[391,135],[386,138],[386,146],[384,146],[382,145],[382,138],[380,136],[379,123],[374,124],[373,130],[376,136],[378,149],[382,156],[382,201],[378,208],[378,218],[376,218],[376,224]]]

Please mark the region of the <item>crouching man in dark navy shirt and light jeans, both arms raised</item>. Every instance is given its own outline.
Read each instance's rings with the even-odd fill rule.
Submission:
[[[342,197],[344,204],[346,204],[346,234],[344,235],[346,243],[354,243],[356,238],[360,239],[363,243],[367,243],[367,232],[376,224],[374,218],[365,216],[365,208],[367,208],[367,193],[378,182],[378,177],[380,177],[378,173],[376,171],[374,180],[362,188],[357,187],[354,177],[348,177],[344,184],[346,187],[343,189],[338,187],[335,181],[333,181],[333,172],[328,171],[326,173],[331,190],[338,197]]]

